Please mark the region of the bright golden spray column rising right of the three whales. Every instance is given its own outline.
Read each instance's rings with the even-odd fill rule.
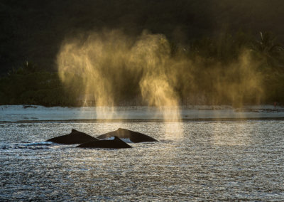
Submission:
[[[172,61],[170,44],[165,36],[143,33],[131,53],[138,65],[143,65],[143,75],[139,83],[143,100],[160,110],[167,107],[173,111],[174,108],[174,113],[170,116],[164,114],[164,118],[179,119],[179,97],[174,89],[176,78],[169,71]]]

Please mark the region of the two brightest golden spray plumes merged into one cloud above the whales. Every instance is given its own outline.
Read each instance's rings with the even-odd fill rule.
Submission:
[[[173,64],[165,36],[147,31],[136,38],[117,30],[91,33],[66,40],[58,54],[62,82],[82,80],[84,100],[114,107],[138,98],[136,105],[173,107],[165,119],[180,118]]]

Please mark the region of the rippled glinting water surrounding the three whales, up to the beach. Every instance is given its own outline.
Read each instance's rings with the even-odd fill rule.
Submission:
[[[118,127],[160,142],[43,143],[72,128],[95,136]],[[0,201],[283,201],[283,132],[284,121],[2,123]]]

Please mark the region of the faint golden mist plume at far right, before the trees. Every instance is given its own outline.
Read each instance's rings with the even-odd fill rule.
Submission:
[[[233,107],[242,107],[247,102],[259,104],[263,97],[263,75],[257,70],[258,62],[253,60],[251,51],[242,51],[234,63],[226,65],[226,68],[213,67],[211,75],[212,88],[215,95],[213,103],[231,103]]]

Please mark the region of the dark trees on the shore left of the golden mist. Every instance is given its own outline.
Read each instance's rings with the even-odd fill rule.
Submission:
[[[0,78],[1,105],[65,106],[74,105],[75,100],[62,87],[57,73],[40,70],[32,63]]]

